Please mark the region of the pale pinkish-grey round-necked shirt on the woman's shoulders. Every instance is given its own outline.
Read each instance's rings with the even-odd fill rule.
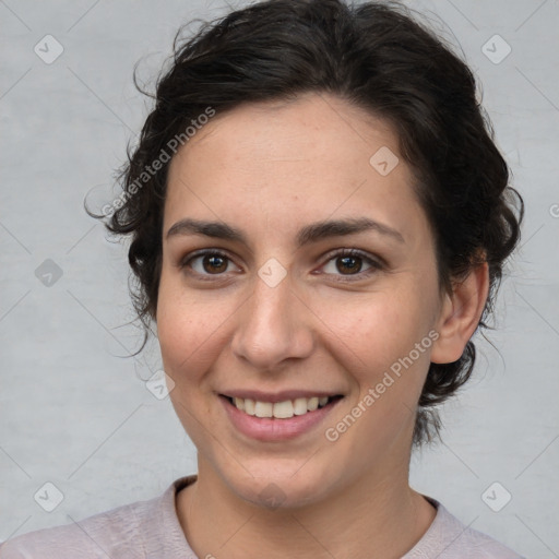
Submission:
[[[195,478],[181,477],[147,501],[13,537],[0,545],[0,559],[212,559],[212,555],[197,557],[177,516],[176,495]],[[466,527],[439,501],[427,499],[437,508],[437,515],[402,559],[524,559]]]

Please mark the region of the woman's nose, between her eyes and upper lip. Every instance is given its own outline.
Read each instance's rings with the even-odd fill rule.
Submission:
[[[312,317],[289,273],[273,287],[255,275],[252,294],[236,313],[231,350],[259,371],[281,369],[312,353]]]

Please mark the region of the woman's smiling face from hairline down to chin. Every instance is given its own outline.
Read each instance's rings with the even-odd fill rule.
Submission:
[[[407,472],[441,310],[412,185],[388,123],[328,95],[217,115],[174,157],[156,320],[200,476],[295,507]]]

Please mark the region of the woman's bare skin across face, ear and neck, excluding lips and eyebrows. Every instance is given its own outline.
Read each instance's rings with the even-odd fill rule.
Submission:
[[[456,360],[475,331],[488,273],[484,264],[452,293],[441,290],[408,166],[400,157],[382,176],[369,164],[382,146],[400,157],[386,122],[307,94],[216,115],[170,163],[156,322],[170,399],[199,453],[198,480],[178,493],[177,512],[201,558],[355,559],[371,549],[399,558],[435,519],[408,485],[414,411],[429,362]],[[368,230],[296,246],[305,225],[362,216],[396,229],[403,242]],[[248,246],[166,238],[185,217],[240,228]],[[385,264],[357,258],[356,274],[352,262],[329,255],[343,248]],[[229,260],[213,264],[217,272],[203,257],[180,267],[200,249]],[[271,258],[286,271],[275,287],[258,275]],[[438,340],[336,441],[326,440],[325,429],[430,331]],[[296,439],[262,442],[230,423],[217,394],[231,389],[344,399]],[[281,489],[277,508],[259,497],[270,484]]]

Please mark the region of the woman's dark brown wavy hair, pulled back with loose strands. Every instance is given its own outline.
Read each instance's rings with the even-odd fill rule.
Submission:
[[[267,0],[204,23],[188,40],[180,35],[170,68],[157,80],[155,107],[140,141],[129,146],[129,160],[117,175],[123,194],[110,212],[96,216],[108,217],[112,234],[131,235],[129,262],[136,280],[131,295],[145,326],[144,345],[156,314],[169,164],[153,174],[146,169],[163,160],[173,139],[185,138],[209,107],[223,115],[240,104],[307,92],[334,94],[394,127],[435,234],[442,288],[488,262],[490,293],[479,323],[487,328],[504,260],[520,238],[524,205],[509,186],[475,78],[443,39],[399,2],[340,0]],[[457,361],[430,365],[414,444],[438,433],[433,406],[468,380],[475,356],[469,341]]]

